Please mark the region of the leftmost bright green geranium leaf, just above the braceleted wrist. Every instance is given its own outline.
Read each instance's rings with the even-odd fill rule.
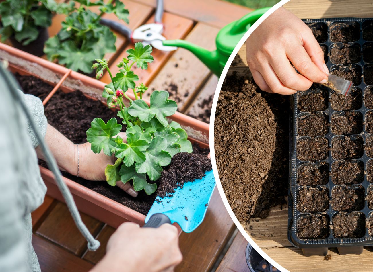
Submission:
[[[104,153],[108,156],[113,154],[112,149],[115,148],[115,138],[122,128],[121,124],[117,124],[115,118],[111,118],[105,124],[101,118],[94,118],[91,123],[91,128],[87,130],[87,141],[91,143],[91,149],[94,153]]]

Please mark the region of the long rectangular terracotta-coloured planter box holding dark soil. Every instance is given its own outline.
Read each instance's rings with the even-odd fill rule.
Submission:
[[[9,62],[9,68],[13,72],[35,76],[53,86],[60,85],[59,88],[63,92],[72,92],[79,89],[87,97],[103,101],[101,97],[105,85],[103,82],[3,43],[0,43],[0,58]],[[53,94],[48,95],[47,99],[51,96]],[[134,99],[133,94],[128,94],[128,96]],[[149,101],[146,102],[149,104]],[[106,102],[103,101],[103,104],[106,105]],[[170,120],[181,124],[183,129],[188,133],[189,140],[198,142],[203,148],[209,147],[209,124],[178,112],[170,116]],[[40,172],[48,188],[47,194],[60,201],[64,201],[54,181],[53,173],[44,167],[40,167]],[[144,224],[145,215],[96,193],[75,181],[68,178],[63,179],[73,194],[79,211],[115,228],[126,221],[135,222],[140,225]]]

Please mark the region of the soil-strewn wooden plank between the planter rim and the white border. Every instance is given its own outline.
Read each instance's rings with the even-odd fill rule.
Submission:
[[[192,104],[185,111],[187,115],[206,123],[210,123],[212,101],[218,80],[219,78],[216,75],[210,76],[209,80],[207,80]]]

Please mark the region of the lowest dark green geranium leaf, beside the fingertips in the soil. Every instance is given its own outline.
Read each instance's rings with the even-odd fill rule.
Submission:
[[[150,184],[146,181],[146,174],[140,174],[136,172],[135,165],[126,166],[122,164],[119,170],[120,180],[125,184],[129,180],[133,180],[135,191],[145,190],[148,195],[154,193],[157,190],[157,184]]]

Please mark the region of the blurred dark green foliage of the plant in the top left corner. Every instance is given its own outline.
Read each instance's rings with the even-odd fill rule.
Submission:
[[[66,13],[74,6],[54,0],[6,0],[0,3],[1,41],[13,37],[22,45],[35,41],[40,28],[52,23],[52,13]]]

